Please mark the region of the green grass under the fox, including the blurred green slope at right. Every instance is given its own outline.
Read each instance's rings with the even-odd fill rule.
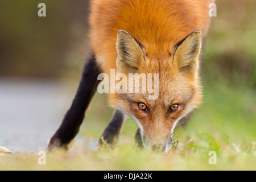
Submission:
[[[255,170],[255,90],[234,89],[225,82],[204,86],[203,104],[177,129],[179,142],[168,154],[135,147],[137,127],[129,120],[115,148],[92,151],[86,142],[77,142],[68,152],[47,153],[46,165],[38,164],[37,154],[5,155],[0,170]],[[104,96],[96,97],[80,131],[86,139],[100,138],[112,115],[105,107],[101,116],[95,115],[106,102]],[[210,151],[217,154],[216,165],[208,162]]]

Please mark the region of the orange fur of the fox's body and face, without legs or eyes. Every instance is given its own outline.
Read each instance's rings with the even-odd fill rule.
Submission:
[[[191,42],[199,42],[201,34],[207,32],[210,17],[209,3],[212,0],[94,0],[90,14],[90,39],[97,63],[104,73],[117,69],[117,34],[119,30],[129,32],[142,44],[143,51],[136,51],[139,73],[159,73],[159,97],[148,100],[147,94],[110,94],[110,104],[138,120],[147,136],[145,143],[168,143],[175,121],[184,117],[201,102],[201,86],[196,49],[195,72],[186,68],[180,73],[181,63]],[[177,49],[175,45],[193,31],[201,31]],[[125,36],[125,35],[121,35]],[[192,37],[192,36],[191,36]],[[125,38],[129,41],[129,36]],[[195,40],[194,40],[195,39]],[[133,40],[131,45],[134,44]],[[130,44],[129,44],[130,45]],[[198,46],[198,45],[197,45]],[[144,53],[144,55],[142,55]],[[175,54],[176,58],[175,58]],[[175,60],[176,59],[176,60]],[[185,59],[185,58],[184,58]],[[190,62],[189,62],[190,63]],[[194,63],[193,63],[194,64]],[[123,65],[122,65],[123,67]],[[182,68],[183,69],[183,68]],[[137,103],[143,102],[151,108],[150,114],[138,110]],[[179,110],[167,115],[172,104],[180,104]]]

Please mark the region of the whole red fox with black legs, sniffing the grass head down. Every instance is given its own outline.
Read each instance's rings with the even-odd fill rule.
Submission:
[[[138,124],[135,138],[141,146],[169,151],[175,126],[201,102],[199,56],[211,2],[93,0],[89,18],[92,51],[72,105],[48,148],[67,147],[75,138],[100,83],[98,75],[110,75],[115,69],[127,76],[157,73],[159,94],[152,100],[149,93],[110,93],[115,113],[102,136],[114,143],[131,117]]]

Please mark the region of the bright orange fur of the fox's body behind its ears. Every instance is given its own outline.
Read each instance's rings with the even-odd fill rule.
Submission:
[[[205,35],[212,0],[93,0],[90,39],[104,71],[115,68],[119,30],[134,36],[148,57],[172,54],[173,46],[193,31]]]

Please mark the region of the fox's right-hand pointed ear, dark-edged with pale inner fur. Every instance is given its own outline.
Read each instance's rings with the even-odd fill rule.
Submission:
[[[173,60],[181,73],[195,75],[199,67],[201,31],[194,31],[175,46]]]

